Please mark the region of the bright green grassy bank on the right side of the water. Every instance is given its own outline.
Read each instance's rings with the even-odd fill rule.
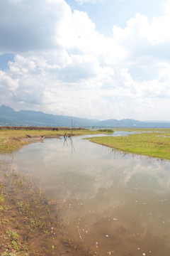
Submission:
[[[128,131],[134,130],[128,129]],[[144,131],[144,129],[136,130]],[[170,160],[170,129],[147,129],[145,133],[130,134],[125,137],[93,137],[89,141],[127,153]]]

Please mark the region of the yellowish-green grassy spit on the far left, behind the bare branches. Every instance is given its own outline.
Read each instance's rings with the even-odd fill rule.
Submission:
[[[28,143],[43,142],[43,138],[52,139],[64,136],[81,136],[85,134],[103,134],[107,132],[92,131],[84,128],[68,127],[0,127],[0,154],[11,153]]]

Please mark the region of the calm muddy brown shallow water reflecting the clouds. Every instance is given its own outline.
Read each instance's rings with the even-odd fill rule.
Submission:
[[[8,161],[60,203],[77,240],[80,223],[85,247],[100,255],[169,256],[170,161],[112,151],[84,137],[73,138],[74,149],[63,139],[29,144]]]

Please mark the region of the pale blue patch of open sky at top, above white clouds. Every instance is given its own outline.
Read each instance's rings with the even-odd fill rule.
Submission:
[[[94,2],[94,4],[92,4]],[[160,0],[103,0],[103,1],[75,1],[67,0],[72,8],[86,11],[96,24],[96,30],[105,36],[112,36],[113,25],[125,28],[126,22],[138,12],[146,15],[149,20],[154,16],[164,14],[163,3]],[[96,4],[95,4],[96,3]]]

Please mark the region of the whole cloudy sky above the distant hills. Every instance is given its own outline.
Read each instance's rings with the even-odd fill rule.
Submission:
[[[0,105],[170,121],[170,0],[1,0]]]

